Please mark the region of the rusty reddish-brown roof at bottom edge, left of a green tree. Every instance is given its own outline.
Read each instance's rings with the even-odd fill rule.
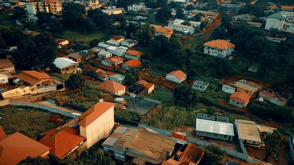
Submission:
[[[193,143],[189,143],[186,147],[185,151],[179,158],[179,162],[184,163],[184,165],[189,165],[190,162],[192,164],[197,165],[198,162],[202,159],[204,155],[204,149],[198,147]]]

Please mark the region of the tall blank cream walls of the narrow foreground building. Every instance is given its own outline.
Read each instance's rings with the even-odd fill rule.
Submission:
[[[114,126],[114,106],[104,112],[87,127],[80,126],[80,135],[87,138],[87,148],[107,137]]]

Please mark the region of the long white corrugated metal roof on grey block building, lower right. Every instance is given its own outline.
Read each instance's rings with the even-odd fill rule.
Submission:
[[[203,119],[196,119],[196,131],[204,131],[228,136],[234,136],[234,127],[232,123],[225,123],[220,121],[210,121]]]

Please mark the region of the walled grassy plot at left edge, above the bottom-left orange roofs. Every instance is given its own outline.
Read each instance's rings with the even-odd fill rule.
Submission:
[[[50,113],[40,108],[29,108],[28,106],[1,106],[0,125],[4,127],[6,134],[20,132],[30,138],[55,128],[48,118]]]

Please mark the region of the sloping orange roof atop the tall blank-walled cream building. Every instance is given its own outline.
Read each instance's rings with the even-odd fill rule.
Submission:
[[[109,110],[114,105],[114,103],[109,102],[98,102],[78,117],[79,119],[82,119],[82,121],[78,125],[87,127],[89,124],[95,121],[98,117],[100,117],[104,112]]]

